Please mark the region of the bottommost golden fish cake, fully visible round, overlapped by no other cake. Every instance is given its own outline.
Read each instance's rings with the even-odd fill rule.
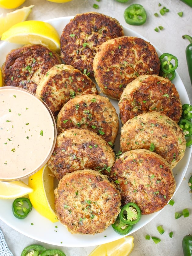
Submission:
[[[55,211],[72,233],[103,232],[120,212],[121,196],[108,176],[94,170],[66,174],[55,189]]]

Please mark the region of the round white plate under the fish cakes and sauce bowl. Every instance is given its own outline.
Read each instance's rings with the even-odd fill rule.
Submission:
[[[52,20],[48,20],[47,22],[52,24],[58,31],[59,35],[62,34],[62,30],[69,20],[72,17],[61,17]],[[146,38],[137,34],[136,32],[123,27],[124,33],[127,36],[137,36],[143,38],[147,41]],[[3,62],[5,61],[6,55],[10,52],[11,49],[15,49],[20,45],[11,44],[4,42],[0,45],[0,67],[2,67]],[[160,56],[162,52],[160,52],[157,48],[156,51]],[[171,49],[170,49],[171,51]],[[171,52],[170,52],[171,53]],[[180,76],[176,73],[176,78],[173,83],[176,85],[176,88],[180,94],[180,99],[182,104],[190,103],[189,97],[187,95],[186,89],[183,85],[183,82],[180,79]],[[117,101],[111,100],[112,104],[116,107],[117,113],[119,114]],[[119,124],[121,124],[119,122]],[[120,129],[119,129],[120,131]],[[119,135],[116,139],[116,152],[119,151]],[[192,152],[192,147],[187,148],[185,156],[183,159],[177,164],[177,166],[173,169],[173,173],[176,179],[176,191],[179,188],[184,175],[187,171],[187,167],[189,165],[190,156]],[[6,224],[11,226],[13,229],[18,232],[32,238],[35,240],[39,240],[44,243],[49,243],[58,246],[67,246],[67,247],[84,247],[84,246],[95,246],[103,243],[108,243],[110,241],[117,240],[122,236],[118,235],[115,231],[113,231],[112,227],[108,227],[103,233],[96,235],[72,235],[67,231],[67,229],[60,223],[55,222],[52,223],[48,219],[42,217],[37,213],[34,209],[31,211],[30,215],[27,218],[20,220],[13,216],[12,214],[12,202],[13,200],[0,200],[0,218]],[[151,215],[142,215],[140,222],[133,226],[131,233],[140,229],[148,222],[150,222],[155,216],[158,215],[159,212],[153,213]],[[131,234],[129,233],[129,234]]]

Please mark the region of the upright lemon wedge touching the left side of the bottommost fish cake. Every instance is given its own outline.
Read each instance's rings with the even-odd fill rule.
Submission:
[[[52,222],[57,222],[55,215],[54,180],[47,164],[28,179],[29,186],[34,190],[29,199],[35,210]]]

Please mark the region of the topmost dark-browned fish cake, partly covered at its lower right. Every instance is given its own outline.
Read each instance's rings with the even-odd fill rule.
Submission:
[[[99,45],[123,35],[115,18],[96,12],[77,14],[63,29],[61,57],[65,64],[93,77],[93,58]]]

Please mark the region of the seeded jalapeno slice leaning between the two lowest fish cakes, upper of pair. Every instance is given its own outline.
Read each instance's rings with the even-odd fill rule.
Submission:
[[[124,224],[133,225],[141,218],[140,207],[135,203],[128,203],[123,206],[119,213],[120,221]]]

